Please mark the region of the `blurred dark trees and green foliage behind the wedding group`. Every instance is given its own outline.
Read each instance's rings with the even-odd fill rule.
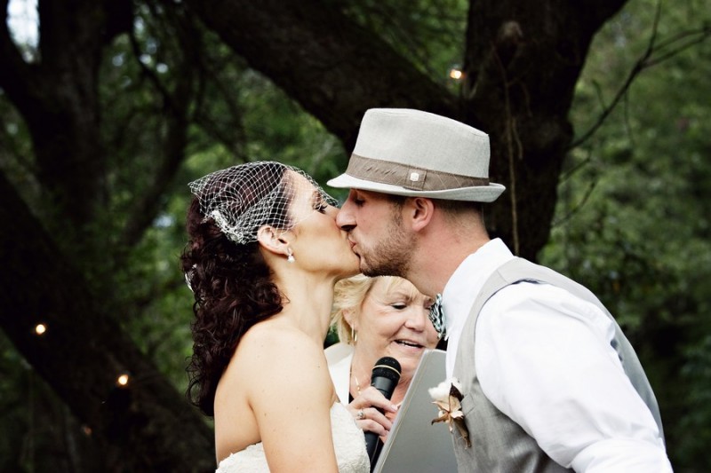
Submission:
[[[324,185],[373,106],[490,134],[507,185],[491,233],[600,296],[650,377],[675,471],[707,471],[706,2],[0,12],[0,471],[214,470],[211,422],[184,397],[187,183],[275,160]]]

